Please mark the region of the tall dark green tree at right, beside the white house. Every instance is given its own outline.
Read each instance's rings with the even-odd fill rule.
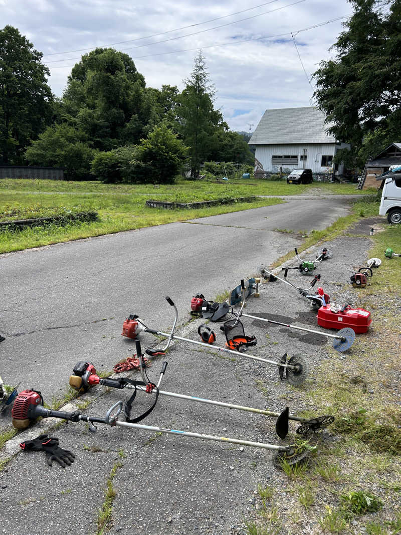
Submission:
[[[349,165],[399,141],[401,124],[401,2],[350,1],[354,13],[333,45],[336,56],[314,73],[314,95],[334,123],[329,131],[352,144],[341,156]]]

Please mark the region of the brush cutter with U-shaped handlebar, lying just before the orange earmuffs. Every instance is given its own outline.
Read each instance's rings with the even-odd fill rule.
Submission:
[[[230,353],[230,354],[233,354],[233,355],[236,355],[236,356],[245,356],[245,357],[251,358],[252,360],[255,360],[255,361],[265,362],[266,364],[273,364],[273,365],[275,365],[275,366],[277,366],[279,368],[280,379],[283,378],[283,374],[284,374],[284,370],[285,370],[288,382],[291,385],[294,385],[294,386],[298,386],[298,385],[302,384],[304,382],[305,378],[307,377],[308,365],[307,365],[307,362],[304,359],[304,357],[302,357],[301,355],[297,355],[297,356],[291,357],[290,360],[287,363],[287,353],[286,353],[285,355],[282,356],[282,358],[281,358],[281,360],[279,362],[274,362],[274,361],[271,361],[271,360],[267,360],[267,358],[261,358],[261,357],[255,356],[255,355],[249,355],[247,353],[244,354],[244,353],[240,353],[238,351],[234,351],[232,349],[228,349],[226,347],[214,346],[214,345],[210,345],[210,344],[205,343],[205,342],[198,342],[197,340],[191,340],[190,338],[183,338],[183,337],[175,335],[174,334],[174,328],[175,328],[175,325],[176,325],[176,322],[177,322],[177,318],[178,318],[178,310],[177,310],[175,304],[173,303],[173,301],[169,297],[166,297],[166,301],[168,302],[169,305],[174,307],[174,311],[175,311],[175,319],[174,319],[174,324],[173,324],[173,328],[172,328],[171,333],[164,333],[162,331],[156,331],[155,329],[151,329],[149,327],[146,327],[146,325],[143,323],[143,321],[140,318],[138,318],[138,316],[136,316],[136,315],[131,315],[130,317],[131,318],[135,318],[134,321],[138,325],[140,325],[140,327],[136,331],[134,330],[134,328],[131,328],[129,330],[123,328],[123,330],[122,330],[122,333],[121,333],[122,336],[125,336],[127,338],[131,338],[132,340],[135,340],[137,338],[137,336],[140,335],[140,333],[143,332],[143,331],[151,333],[151,334],[156,334],[157,336],[164,336],[164,337],[168,338],[167,343],[166,343],[166,345],[165,345],[165,347],[163,349],[161,349],[161,350],[160,349],[151,349],[151,348],[146,349],[145,353],[147,355],[154,356],[155,354],[163,353],[164,351],[167,350],[167,348],[170,345],[172,339],[174,339],[174,340],[182,340],[183,342],[193,343],[196,346],[207,347],[209,349],[215,349],[216,351],[222,351],[223,353]],[[124,325],[125,325],[125,323],[124,323]]]

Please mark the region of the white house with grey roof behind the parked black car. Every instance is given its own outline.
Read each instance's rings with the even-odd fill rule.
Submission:
[[[314,106],[266,110],[253,132],[250,145],[256,146],[255,173],[289,172],[297,167],[313,173],[342,174],[343,165],[333,169],[338,149],[349,147],[328,134],[325,114]]]

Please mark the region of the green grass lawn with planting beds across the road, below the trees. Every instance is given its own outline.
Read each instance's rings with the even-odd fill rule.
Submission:
[[[300,193],[361,193],[354,184],[288,185],[286,181],[234,179],[229,182],[178,180],[174,185],[102,184],[97,181],[0,180],[0,220],[50,216],[65,211],[94,210],[98,220],[67,226],[26,228],[0,233],[0,253],[68,240],[127,231],[153,225],[217,215],[277,204],[276,198],[252,203],[218,205],[196,210],[147,208],[148,199],[191,202],[250,195],[296,195]],[[366,192],[363,192],[365,194]]]

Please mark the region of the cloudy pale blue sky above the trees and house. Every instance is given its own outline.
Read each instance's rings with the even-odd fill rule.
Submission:
[[[313,104],[308,78],[345,19],[305,29],[351,12],[347,0],[0,0],[0,28],[17,27],[43,52],[57,96],[94,47],[128,53],[147,86],[179,90],[202,49],[215,106],[233,130],[253,131],[268,108]]]

